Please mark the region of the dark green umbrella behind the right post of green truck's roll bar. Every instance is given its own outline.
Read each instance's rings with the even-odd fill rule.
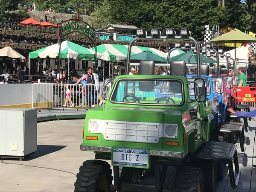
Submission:
[[[185,61],[186,63],[196,63],[197,62],[197,58],[196,55],[193,55],[194,52],[192,50],[181,53],[180,55],[176,55],[172,58],[169,59],[169,61]],[[189,57],[192,55],[192,57],[190,58],[190,62],[189,62]],[[203,59],[206,58],[204,55],[200,55],[200,63],[202,64]],[[167,59],[165,60],[167,61]],[[206,58],[204,59],[204,63],[216,63],[215,60],[211,59],[211,58]]]

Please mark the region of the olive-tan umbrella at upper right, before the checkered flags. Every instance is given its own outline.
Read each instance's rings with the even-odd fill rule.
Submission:
[[[237,43],[245,44],[245,43],[252,43],[256,42],[256,38],[248,35],[244,32],[241,32],[239,29],[234,29],[224,35],[218,36],[210,41],[210,43],[215,44],[225,44],[225,43],[234,43],[235,47]],[[236,49],[235,49],[235,57],[236,58]]]

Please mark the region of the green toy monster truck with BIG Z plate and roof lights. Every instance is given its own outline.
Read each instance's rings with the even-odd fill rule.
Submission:
[[[128,48],[126,74],[131,46],[139,39],[193,41],[199,58],[198,42],[188,30],[181,29],[180,36],[172,30],[167,28],[163,37],[152,29],[151,36],[145,37],[145,31],[137,29],[138,38]],[[225,162],[236,188],[236,145],[213,135],[213,110],[200,77],[199,59],[194,81],[186,78],[184,61],[171,62],[170,76],[154,75],[154,67],[153,61],[140,61],[139,75],[105,81],[102,98],[106,103],[87,112],[80,146],[81,151],[94,151],[96,160],[80,167],[75,191],[215,191]],[[111,160],[113,175],[111,165],[103,160]]]

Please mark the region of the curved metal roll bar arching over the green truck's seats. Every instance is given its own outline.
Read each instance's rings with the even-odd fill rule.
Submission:
[[[201,77],[200,47],[199,47],[198,41],[196,41],[195,38],[193,38],[193,37],[182,37],[182,36],[175,36],[175,37],[160,36],[159,38],[154,38],[154,37],[151,37],[151,36],[147,36],[146,38],[140,38],[140,37],[134,38],[128,46],[127,66],[126,66],[126,69],[125,69],[125,74],[127,74],[127,75],[129,74],[130,63],[131,63],[131,47],[132,47],[132,44],[137,40],[145,40],[145,39],[174,39],[174,40],[179,39],[179,40],[191,40],[191,41],[193,41],[193,43],[195,43],[196,56],[197,56],[197,71],[198,71],[197,75],[198,75],[198,78]],[[169,64],[169,57],[170,57],[170,54],[168,52],[167,64]]]

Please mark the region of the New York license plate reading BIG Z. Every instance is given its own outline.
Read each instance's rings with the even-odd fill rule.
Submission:
[[[113,166],[148,168],[148,150],[113,147]]]

